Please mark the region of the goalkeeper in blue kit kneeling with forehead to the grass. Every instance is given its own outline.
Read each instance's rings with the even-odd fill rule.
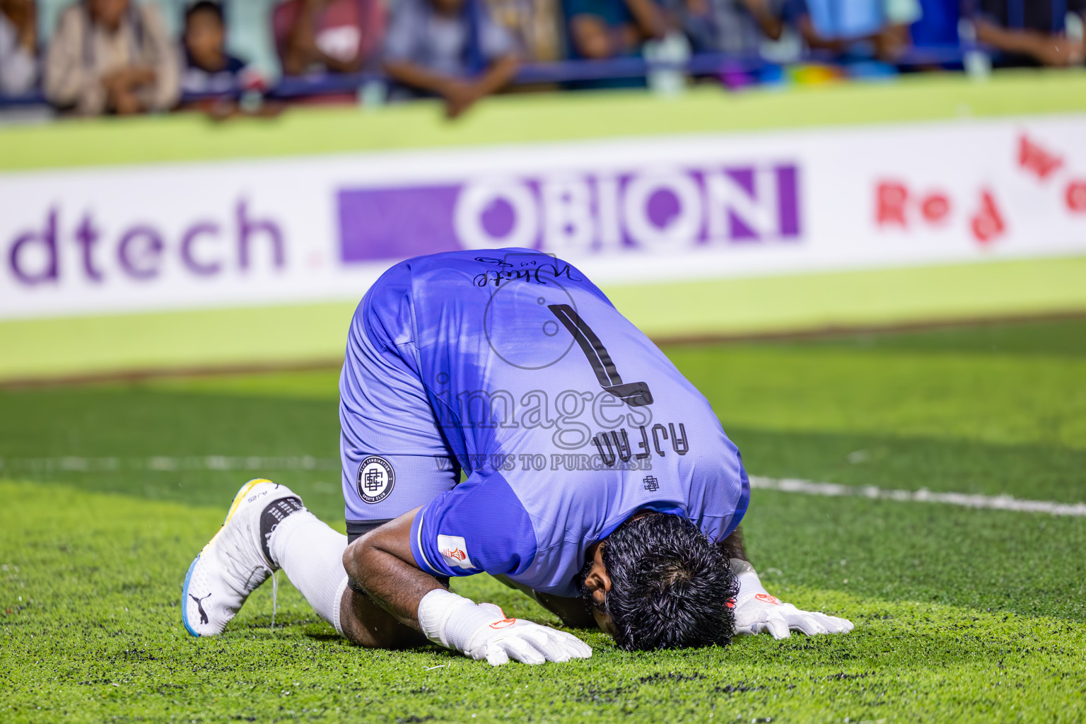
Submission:
[[[351,323],[340,422],[349,536],[250,481],[189,568],[189,633],[222,633],[279,568],[358,645],[429,639],[494,665],[592,649],[451,593],[451,576],[496,575],[628,650],[853,628],[766,592],[738,531],[747,474],[708,401],[553,256],[389,269]]]

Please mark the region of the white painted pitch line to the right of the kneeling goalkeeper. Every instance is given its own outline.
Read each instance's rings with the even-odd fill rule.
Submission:
[[[934,493],[926,488],[919,491],[895,491],[874,485],[839,485],[817,483],[793,478],[750,478],[750,487],[781,493],[822,495],[825,497],[864,497],[877,500],[899,500],[907,503],[942,503],[962,508],[986,508],[989,510],[1013,510],[1016,512],[1047,512],[1052,516],[1086,517],[1086,503],[1051,503],[1048,500],[1023,500],[1010,495],[968,495],[965,493]]]

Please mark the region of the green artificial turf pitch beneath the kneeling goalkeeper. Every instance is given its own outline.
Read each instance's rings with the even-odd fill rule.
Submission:
[[[753,474],[1086,500],[1086,320],[667,350]],[[756,490],[767,587],[845,636],[491,669],[346,645],[296,590],[178,600],[237,486],[342,530],[336,370],[0,392],[0,722],[1078,722],[1086,520]],[[157,460],[159,462],[153,462]],[[477,600],[554,620],[488,576]]]

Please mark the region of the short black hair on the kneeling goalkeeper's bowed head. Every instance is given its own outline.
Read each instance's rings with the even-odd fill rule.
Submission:
[[[628,651],[691,648],[732,640],[738,583],[728,552],[694,523],[656,513],[628,520],[601,549],[611,580],[604,608]],[[592,596],[581,593],[590,606]]]

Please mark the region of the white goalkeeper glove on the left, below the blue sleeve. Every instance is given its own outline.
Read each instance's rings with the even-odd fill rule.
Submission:
[[[544,661],[588,659],[592,649],[572,634],[522,619],[507,619],[493,604],[473,604],[444,588],[431,590],[418,605],[422,633],[434,644],[476,661],[501,666],[513,659]]]

